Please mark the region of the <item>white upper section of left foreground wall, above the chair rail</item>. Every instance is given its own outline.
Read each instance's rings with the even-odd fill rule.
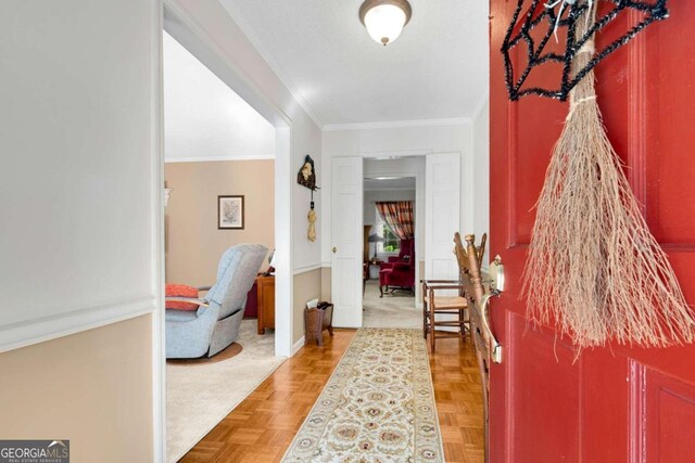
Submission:
[[[154,308],[159,11],[80,4],[0,9],[3,342]]]

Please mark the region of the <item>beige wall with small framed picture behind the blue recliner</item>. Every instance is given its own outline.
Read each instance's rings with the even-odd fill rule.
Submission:
[[[219,257],[235,244],[260,243],[273,250],[274,160],[167,163],[164,170],[174,189],[166,207],[167,282],[213,284]],[[218,195],[244,196],[243,230],[217,230]]]

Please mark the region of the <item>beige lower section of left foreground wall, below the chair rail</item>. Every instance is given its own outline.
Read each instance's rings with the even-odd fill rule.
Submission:
[[[0,438],[70,439],[73,463],[152,460],[152,318],[0,353]]]

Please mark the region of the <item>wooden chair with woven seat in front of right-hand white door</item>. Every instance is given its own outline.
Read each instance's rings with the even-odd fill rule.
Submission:
[[[484,241],[477,259],[482,259]],[[437,349],[437,339],[445,337],[465,338],[470,333],[470,316],[468,312],[468,296],[464,287],[464,274],[468,272],[468,255],[463,246],[460,234],[454,234],[454,254],[458,262],[458,280],[422,280],[422,336],[430,336],[431,351]],[[455,294],[452,294],[455,293]],[[438,330],[440,327],[440,330]],[[445,331],[441,329],[458,329]]]

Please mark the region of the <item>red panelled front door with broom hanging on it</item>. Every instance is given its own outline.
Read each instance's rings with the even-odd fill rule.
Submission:
[[[533,205],[568,105],[536,97],[508,101],[500,49],[516,4],[491,0],[490,255],[502,256],[507,275],[491,307],[504,348],[503,363],[491,370],[491,461],[695,462],[695,346],[610,345],[573,362],[571,344],[556,338],[553,326],[527,325],[519,292]],[[693,303],[695,1],[671,0],[668,8],[667,21],[598,65],[597,93],[649,228]],[[635,18],[623,14],[598,44]]]

